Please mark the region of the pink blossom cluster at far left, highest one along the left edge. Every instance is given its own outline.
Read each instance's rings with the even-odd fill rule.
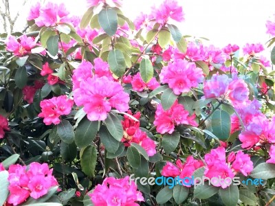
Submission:
[[[25,56],[31,53],[32,48],[36,46],[36,41],[32,37],[22,35],[20,38],[9,36],[5,41],[6,49],[15,56]]]

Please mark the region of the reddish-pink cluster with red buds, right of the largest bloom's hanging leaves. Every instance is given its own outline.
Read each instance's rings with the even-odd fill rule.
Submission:
[[[132,115],[131,111],[128,111],[128,113]],[[133,117],[140,119],[140,113],[135,113]],[[146,133],[140,129],[140,122],[135,121],[128,115],[124,115],[124,120],[121,123],[124,130],[122,142],[124,142],[125,146],[130,146],[131,143],[134,142],[140,144],[149,157],[155,155],[155,141],[150,139]]]

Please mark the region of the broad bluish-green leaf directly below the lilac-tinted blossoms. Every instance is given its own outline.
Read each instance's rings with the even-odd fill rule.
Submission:
[[[230,115],[223,110],[217,109],[211,118],[212,133],[219,139],[228,139],[230,136],[231,119]]]

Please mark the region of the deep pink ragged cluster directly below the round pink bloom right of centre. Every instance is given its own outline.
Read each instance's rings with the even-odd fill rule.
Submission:
[[[157,105],[154,124],[157,126],[157,133],[172,134],[175,130],[175,126],[179,124],[198,126],[195,118],[195,113],[190,116],[189,112],[184,109],[184,106],[179,104],[176,100],[173,106],[166,111],[164,111],[161,104]]]

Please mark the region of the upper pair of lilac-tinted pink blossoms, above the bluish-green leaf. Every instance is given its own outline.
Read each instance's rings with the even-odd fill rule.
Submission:
[[[240,108],[249,102],[248,84],[238,78],[228,78],[227,75],[213,75],[204,82],[203,92],[205,98],[222,98],[230,100],[233,106]]]

